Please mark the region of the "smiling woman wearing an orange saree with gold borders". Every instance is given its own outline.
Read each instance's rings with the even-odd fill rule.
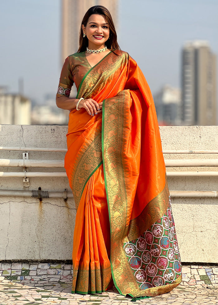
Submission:
[[[181,282],[181,262],[152,95],[116,39],[108,10],[90,8],[57,93],[57,106],[70,110],[72,292],[101,293],[114,283],[123,295],[155,296]],[[77,97],[69,98],[73,83]]]

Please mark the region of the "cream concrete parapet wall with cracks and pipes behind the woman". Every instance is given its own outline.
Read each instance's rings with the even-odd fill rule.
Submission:
[[[0,260],[71,259],[76,210],[63,168],[66,133],[66,126],[0,125]],[[160,133],[182,262],[218,263],[218,127]],[[30,197],[39,188],[52,198]]]

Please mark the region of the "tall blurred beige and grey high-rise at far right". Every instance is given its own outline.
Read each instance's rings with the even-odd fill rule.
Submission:
[[[216,125],[216,55],[209,43],[186,42],[182,50],[182,121]]]

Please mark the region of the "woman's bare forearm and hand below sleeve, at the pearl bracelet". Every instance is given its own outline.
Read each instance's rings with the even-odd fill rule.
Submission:
[[[58,108],[72,110],[76,108],[78,98],[67,98],[64,96],[56,97],[56,105]],[[89,115],[94,115],[101,112],[102,103],[97,103],[92,98],[81,100],[78,108],[85,108]]]

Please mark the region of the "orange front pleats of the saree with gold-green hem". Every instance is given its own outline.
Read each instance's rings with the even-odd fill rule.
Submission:
[[[102,169],[88,180],[76,214],[72,292],[100,293],[111,281],[110,223]]]

